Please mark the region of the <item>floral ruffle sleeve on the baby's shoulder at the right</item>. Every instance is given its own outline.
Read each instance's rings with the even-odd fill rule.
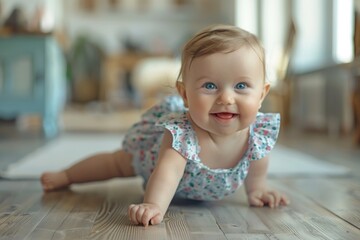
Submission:
[[[250,129],[249,160],[265,157],[275,146],[280,131],[280,114],[258,113]]]

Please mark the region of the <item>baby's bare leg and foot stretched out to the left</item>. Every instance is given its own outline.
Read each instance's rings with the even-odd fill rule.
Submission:
[[[88,157],[63,171],[43,173],[40,180],[43,189],[51,191],[73,183],[131,176],[135,176],[132,155],[124,150],[119,150],[114,153],[102,153]]]

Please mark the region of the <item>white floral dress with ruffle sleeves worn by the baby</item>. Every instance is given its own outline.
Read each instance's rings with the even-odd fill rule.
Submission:
[[[280,115],[258,113],[250,126],[249,148],[239,163],[228,169],[211,169],[199,158],[200,146],[187,109],[179,96],[167,97],[148,110],[141,121],[126,134],[123,148],[133,155],[136,174],[145,185],[154,170],[163,134],[173,137],[172,147],[186,160],[186,167],[176,195],[194,200],[219,200],[235,192],[244,182],[250,161],[265,157],[274,147],[280,127]]]

